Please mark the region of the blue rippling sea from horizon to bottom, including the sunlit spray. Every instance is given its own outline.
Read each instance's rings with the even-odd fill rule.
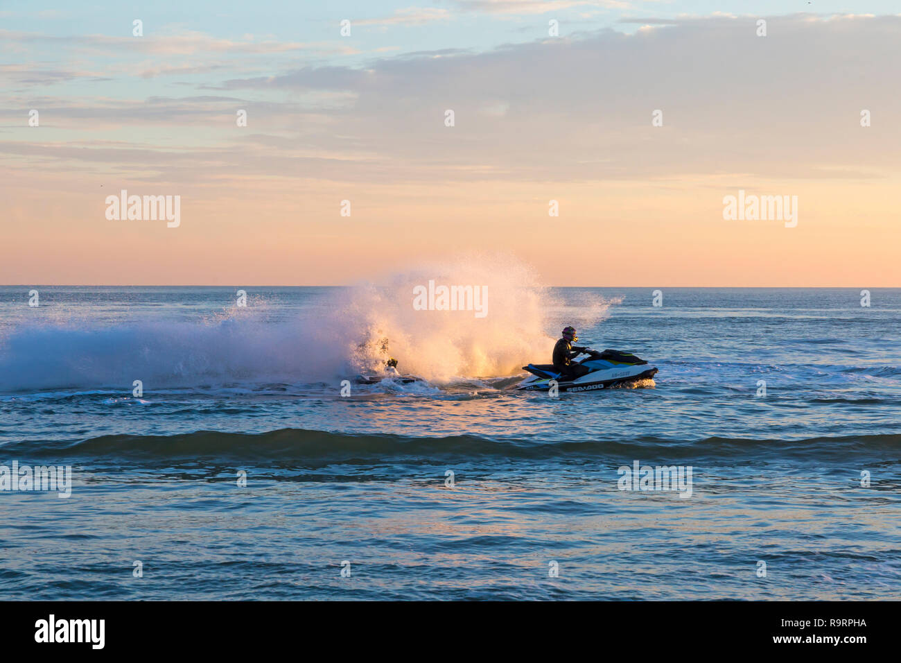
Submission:
[[[0,598],[901,599],[901,289],[411,278],[0,287]],[[660,372],[515,391],[568,324]]]

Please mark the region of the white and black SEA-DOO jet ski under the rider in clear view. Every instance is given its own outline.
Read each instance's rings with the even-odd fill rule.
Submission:
[[[532,373],[532,376],[517,384],[516,389],[549,391],[551,381],[556,381],[560,391],[595,391],[617,384],[647,380],[657,373],[656,368],[631,353],[619,350],[585,350],[585,354],[588,356],[576,362],[590,369],[585,375],[580,375],[575,380],[566,380],[560,378],[560,373],[554,369],[553,364],[529,364],[523,366],[523,371]]]

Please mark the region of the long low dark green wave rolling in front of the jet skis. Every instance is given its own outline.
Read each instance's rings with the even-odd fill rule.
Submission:
[[[226,433],[199,430],[193,433],[151,435],[109,435],[77,441],[34,441],[8,443],[0,449],[5,455],[32,458],[108,459],[114,462],[166,465],[184,459],[195,464],[211,459],[223,464],[250,461],[296,465],[328,465],[332,463],[387,463],[403,458],[421,462],[461,457],[521,458],[554,460],[593,458],[599,456],[632,459],[642,449],[655,453],[665,449],[665,456],[678,458],[759,457],[772,452],[779,458],[799,456],[810,459],[847,460],[849,454],[869,451],[885,454],[901,448],[901,435],[851,435],[809,437],[793,440],[740,437],[705,437],[675,440],[645,436],[632,440],[595,439],[585,441],[545,441],[515,438],[492,438],[475,435],[414,437],[392,434],[334,433],[304,428],[282,428],[264,433]],[[647,451],[641,452],[647,453]]]

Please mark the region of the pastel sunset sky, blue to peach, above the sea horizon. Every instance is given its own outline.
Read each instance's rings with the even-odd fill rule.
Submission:
[[[877,0],[0,0],[0,283],[505,253],[560,286],[898,287],[899,43]],[[177,226],[110,218],[122,190]]]

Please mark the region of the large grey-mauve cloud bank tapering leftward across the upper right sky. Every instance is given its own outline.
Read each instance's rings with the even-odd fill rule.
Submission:
[[[763,38],[756,18],[719,16],[483,53],[420,53],[367,69],[298,69],[225,87],[344,90],[354,102],[335,118],[341,134],[417,173],[424,166],[453,176],[451,167],[477,163],[506,177],[548,179],[832,177],[825,164],[897,166],[888,152],[872,153],[876,132],[862,133],[859,114],[871,107],[887,120],[901,112],[899,38],[901,19],[891,16],[771,18]],[[455,112],[453,128],[443,124],[446,109]],[[660,128],[651,127],[656,109]],[[897,145],[896,125],[881,123],[880,140]]]

